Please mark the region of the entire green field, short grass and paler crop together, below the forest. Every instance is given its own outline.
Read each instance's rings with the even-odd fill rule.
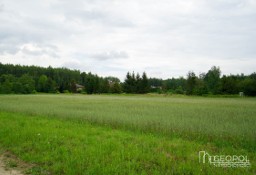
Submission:
[[[255,126],[255,98],[0,96],[0,147],[32,174],[256,174]],[[199,163],[202,150],[251,167]]]

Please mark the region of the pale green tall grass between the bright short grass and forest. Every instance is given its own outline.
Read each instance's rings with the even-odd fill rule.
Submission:
[[[255,98],[3,95],[0,110],[256,150]]]

